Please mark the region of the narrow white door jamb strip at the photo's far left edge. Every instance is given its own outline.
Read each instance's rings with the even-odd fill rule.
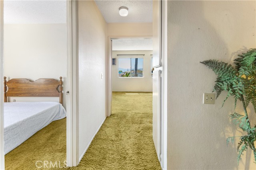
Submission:
[[[4,170],[4,1],[0,0],[0,169]]]

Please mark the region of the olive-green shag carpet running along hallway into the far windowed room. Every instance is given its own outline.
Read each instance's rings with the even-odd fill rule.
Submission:
[[[113,92],[107,117],[71,170],[160,170],[152,139],[152,93]]]

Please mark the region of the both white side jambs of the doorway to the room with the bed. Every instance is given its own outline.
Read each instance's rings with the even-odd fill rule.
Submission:
[[[77,166],[78,152],[78,43],[77,43],[77,3],[67,0],[67,166]],[[4,42],[4,1],[0,0],[0,89],[3,89],[3,42]],[[4,94],[0,90],[0,169],[4,169]]]

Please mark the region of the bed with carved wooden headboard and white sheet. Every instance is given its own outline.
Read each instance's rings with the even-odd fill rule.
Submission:
[[[18,147],[52,121],[66,117],[60,81],[4,77],[4,154]],[[59,97],[59,102],[8,102],[8,97]]]

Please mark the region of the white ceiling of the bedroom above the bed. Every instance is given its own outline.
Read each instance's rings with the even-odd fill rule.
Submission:
[[[4,0],[4,23],[66,23],[66,0]]]

